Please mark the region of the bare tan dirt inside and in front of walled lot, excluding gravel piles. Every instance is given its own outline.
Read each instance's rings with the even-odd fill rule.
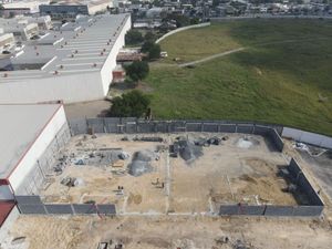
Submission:
[[[193,139],[211,136],[183,135]],[[122,141],[124,136],[128,141]],[[281,154],[263,137],[227,134],[228,139],[220,145],[203,146],[203,155],[188,163],[160,149],[176,141],[175,135],[144,136],[162,136],[164,142],[134,142],[135,135],[74,137],[64,154],[75,155],[61,175],[51,177],[53,183],[43,191],[45,200],[51,203],[113,203],[116,217],[21,216],[10,230],[8,245],[18,237],[23,237],[23,242],[19,247],[1,246],[98,249],[100,242],[112,241],[108,248],[115,245],[127,249],[331,248],[332,212],[325,198],[322,219],[209,216],[219,204],[227,203],[297,205],[300,201],[297,197],[282,191],[288,183],[277,174],[279,168],[293,156],[313,184],[317,180],[290,142]],[[111,148],[121,148],[131,158],[116,167],[95,165],[95,158],[94,165],[73,163],[91,152]],[[144,149],[158,151],[158,159],[152,162],[153,170],[136,177],[127,174],[125,168],[133,154]],[[77,177],[83,184],[66,187],[61,184],[66,176]],[[156,186],[157,178],[165,184],[163,188]],[[115,194],[118,186],[124,187],[122,195]]]

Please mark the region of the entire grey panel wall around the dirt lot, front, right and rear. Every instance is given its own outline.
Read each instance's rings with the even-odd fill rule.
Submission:
[[[145,121],[126,117],[80,118],[69,121],[72,136],[87,133],[144,134],[144,133],[242,133],[267,137],[274,147],[282,152],[283,127],[271,124],[232,121]],[[298,129],[295,129],[298,131]],[[65,139],[64,139],[65,141]],[[274,205],[221,205],[218,215],[246,216],[302,216],[318,217],[323,211],[323,201],[311,186],[299,164],[292,158],[288,167],[297,185],[308,195],[309,206],[274,206]],[[115,205],[94,204],[43,204],[40,196],[17,196],[18,208],[25,215],[116,215]]]

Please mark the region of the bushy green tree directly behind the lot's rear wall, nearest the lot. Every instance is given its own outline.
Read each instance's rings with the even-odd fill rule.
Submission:
[[[149,98],[137,90],[114,97],[110,116],[142,117],[148,110]]]

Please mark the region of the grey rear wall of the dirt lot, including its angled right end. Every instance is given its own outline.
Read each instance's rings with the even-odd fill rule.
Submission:
[[[283,142],[280,137],[282,127],[273,125],[258,125],[255,123],[228,123],[227,121],[144,121],[137,118],[81,118],[69,121],[72,135],[86,134],[87,129],[94,133],[243,133],[261,135],[282,152]]]

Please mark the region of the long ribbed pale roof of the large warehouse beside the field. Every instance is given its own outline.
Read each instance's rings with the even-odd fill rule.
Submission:
[[[50,30],[35,41],[23,42],[23,53],[12,64],[43,63],[41,70],[0,72],[0,83],[101,71],[128,14],[101,14]]]

